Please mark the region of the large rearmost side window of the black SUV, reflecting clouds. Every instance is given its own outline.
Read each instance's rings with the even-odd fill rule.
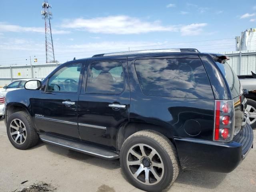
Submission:
[[[135,68],[146,95],[214,99],[200,59],[142,59],[135,61]]]

